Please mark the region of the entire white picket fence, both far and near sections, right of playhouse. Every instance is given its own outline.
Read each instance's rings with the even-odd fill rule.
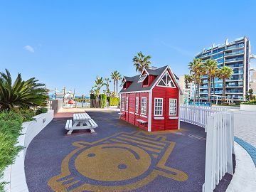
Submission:
[[[181,105],[183,122],[204,127],[206,131],[206,169],[203,192],[213,192],[225,173],[233,174],[233,116],[224,107]]]

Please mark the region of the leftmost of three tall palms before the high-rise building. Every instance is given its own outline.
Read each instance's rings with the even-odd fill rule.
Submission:
[[[196,85],[198,85],[197,92],[198,92],[198,98],[199,98],[200,97],[199,89],[200,89],[201,75],[203,74],[203,63],[202,63],[201,59],[199,59],[199,58],[193,59],[192,62],[188,63],[188,68],[190,69],[190,72],[193,75],[193,81],[195,83],[195,88],[196,88]],[[194,102],[194,104],[196,102],[196,89],[194,92],[193,102]]]

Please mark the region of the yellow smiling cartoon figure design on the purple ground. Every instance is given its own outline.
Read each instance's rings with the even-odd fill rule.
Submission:
[[[183,171],[166,166],[175,143],[145,132],[119,132],[97,142],[74,142],[78,149],[65,156],[61,174],[48,186],[53,191],[129,191],[157,176],[186,181]]]

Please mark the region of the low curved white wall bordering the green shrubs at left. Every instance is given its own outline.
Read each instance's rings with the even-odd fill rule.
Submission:
[[[33,117],[33,119],[35,120],[24,122],[22,124],[22,134],[18,137],[17,145],[24,146],[25,148],[18,153],[14,164],[5,169],[4,178],[1,179],[2,181],[9,182],[5,186],[7,192],[28,191],[24,169],[26,149],[32,139],[53,119],[53,110],[50,110],[47,113],[38,114]]]

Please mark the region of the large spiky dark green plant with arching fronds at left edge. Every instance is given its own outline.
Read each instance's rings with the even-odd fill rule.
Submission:
[[[28,109],[43,105],[46,102],[46,88],[43,83],[38,83],[36,78],[22,80],[21,74],[14,83],[9,70],[0,73],[0,109],[10,110],[13,108]]]

